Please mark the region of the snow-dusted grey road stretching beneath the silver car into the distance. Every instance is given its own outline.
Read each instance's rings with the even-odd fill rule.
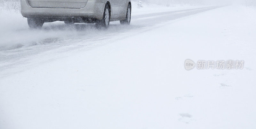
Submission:
[[[108,30],[97,30],[94,24],[66,26],[63,22],[46,23],[40,31],[29,30],[26,18],[22,18],[20,24],[23,26],[13,30],[6,28],[6,32],[0,36],[0,78],[60,58],[67,54],[67,51],[91,49],[104,43],[129,38],[164,26],[171,20],[215,8],[218,7],[137,11],[132,16],[131,25],[124,26],[119,22],[112,22]]]

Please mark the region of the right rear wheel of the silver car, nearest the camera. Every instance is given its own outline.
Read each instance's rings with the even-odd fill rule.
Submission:
[[[110,9],[108,4],[105,5],[103,18],[96,23],[97,28],[108,28],[110,22]]]

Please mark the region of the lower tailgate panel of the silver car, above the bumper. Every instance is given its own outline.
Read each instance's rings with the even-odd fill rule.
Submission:
[[[28,0],[32,7],[84,8],[88,0]]]

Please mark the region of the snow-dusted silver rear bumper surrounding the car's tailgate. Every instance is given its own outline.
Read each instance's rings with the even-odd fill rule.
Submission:
[[[23,17],[86,17],[102,19],[106,3],[88,0],[84,8],[38,8],[31,7],[27,0],[21,0]]]

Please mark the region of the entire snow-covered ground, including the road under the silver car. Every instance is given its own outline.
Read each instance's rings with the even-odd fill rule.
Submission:
[[[61,22],[31,31],[11,15],[20,18],[1,24],[0,128],[255,129],[255,12],[135,9],[130,26],[105,31]],[[245,68],[186,71],[187,58]]]

